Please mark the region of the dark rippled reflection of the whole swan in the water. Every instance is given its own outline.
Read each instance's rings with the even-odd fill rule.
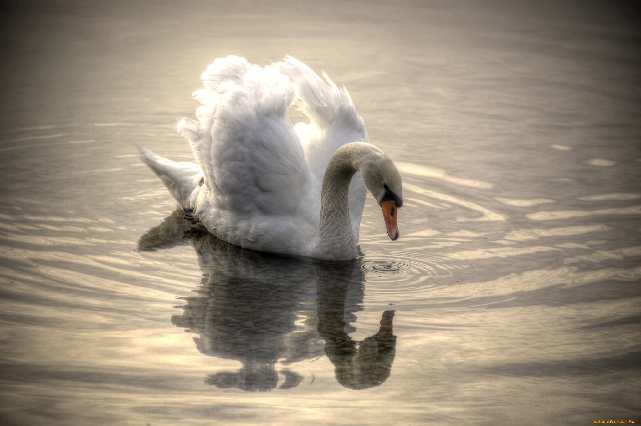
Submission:
[[[185,298],[183,314],[172,316],[172,323],[199,334],[194,341],[203,354],[242,363],[238,372],[210,375],[206,383],[267,391],[277,387],[280,374],[285,381],[278,387],[293,388],[303,377],[277,372],[276,363],[323,352],[347,388],[378,386],[390,375],[393,311],[383,314],[381,330],[358,349],[347,335],[355,331],[349,323],[362,309],[365,279],[358,261],[311,263],[241,249],[190,228],[181,210],[142,236],[139,248],[154,250],[183,239],[193,243],[203,279],[198,295]]]

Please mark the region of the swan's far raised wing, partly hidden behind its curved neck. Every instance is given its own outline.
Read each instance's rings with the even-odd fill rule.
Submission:
[[[322,72],[323,81],[310,67],[291,56],[275,63],[279,72],[296,84],[296,107],[310,123],[297,123],[305,158],[311,172],[322,180],[334,152],[349,142],[368,142],[363,119],[345,87],[338,87]]]

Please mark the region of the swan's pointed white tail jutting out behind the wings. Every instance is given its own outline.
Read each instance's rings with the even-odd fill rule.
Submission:
[[[196,199],[203,183],[203,170],[196,163],[171,161],[161,157],[145,147],[136,145],[140,151],[140,160],[145,163],[156,176],[160,177],[171,195],[183,208],[194,208]]]

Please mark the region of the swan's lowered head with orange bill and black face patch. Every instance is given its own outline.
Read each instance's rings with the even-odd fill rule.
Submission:
[[[396,217],[399,207],[403,205],[401,174],[385,152],[369,143],[367,145],[369,152],[360,159],[358,170],[363,175],[365,186],[383,209],[387,234],[396,240],[400,235]]]

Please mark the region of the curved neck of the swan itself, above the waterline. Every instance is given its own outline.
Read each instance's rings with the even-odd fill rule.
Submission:
[[[366,156],[366,143],[350,143],[338,149],[329,160],[320,194],[319,240],[315,258],[343,260],[356,258],[356,238],[349,218],[349,183]]]

